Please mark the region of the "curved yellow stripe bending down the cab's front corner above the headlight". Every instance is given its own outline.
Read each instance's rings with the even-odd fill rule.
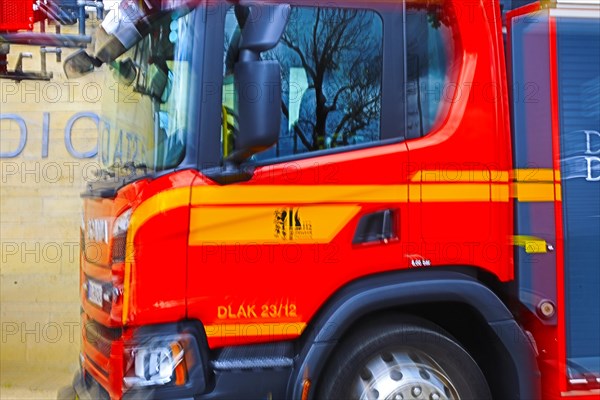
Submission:
[[[135,209],[129,223],[127,232],[127,251],[125,258],[125,277],[123,282],[123,324],[127,324],[129,317],[129,296],[131,292],[131,255],[133,253],[133,239],[137,231],[151,218],[160,213],[165,213],[179,207],[185,207],[190,202],[190,188],[178,188],[157,195],[144,201]]]

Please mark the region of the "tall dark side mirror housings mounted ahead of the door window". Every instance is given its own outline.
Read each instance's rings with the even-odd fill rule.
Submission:
[[[277,143],[281,129],[281,67],[260,53],[281,40],[290,15],[288,4],[247,8],[234,67],[239,133],[230,161],[241,163]]]

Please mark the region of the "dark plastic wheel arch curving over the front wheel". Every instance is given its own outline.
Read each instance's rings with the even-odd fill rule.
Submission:
[[[539,398],[535,350],[510,311],[481,282],[445,270],[386,273],[340,289],[303,335],[288,397],[302,398],[304,380],[308,378],[312,382],[309,398],[314,398],[318,378],[338,343],[370,318],[386,313],[421,317],[448,331],[480,365],[498,398]],[[452,323],[450,313],[477,323],[476,328]],[[513,373],[490,375],[498,368]]]

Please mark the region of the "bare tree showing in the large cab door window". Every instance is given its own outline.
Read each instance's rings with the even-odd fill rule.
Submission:
[[[375,13],[362,10],[317,8],[310,18],[305,10],[290,16],[282,39],[288,50],[270,56],[284,66],[288,82],[286,66],[306,71],[308,90],[293,131],[314,151],[348,144],[379,119],[382,46],[373,32],[381,31],[381,22]],[[287,105],[282,111],[289,119]]]

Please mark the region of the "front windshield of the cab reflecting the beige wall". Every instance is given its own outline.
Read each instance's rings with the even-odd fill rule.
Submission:
[[[193,12],[170,13],[105,66],[100,158],[103,168],[161,171],[185,158],[192,87]]]

